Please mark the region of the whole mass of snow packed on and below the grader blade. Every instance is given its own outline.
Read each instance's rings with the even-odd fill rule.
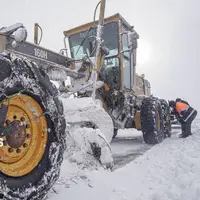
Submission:
[[[105,168],[112,166],[110,142],[113,122],[99,101],[94,102],[92,98],[61,99],[69,131],[66,158],[81,168],[96,169],[100,167],[99,161]],[[92,122],[96,129],[90,127],[91,124],[87,127],[85,122]],[[97,159],[93,156],[93,145],[97,147],[95,150],[101,149],[101,155]]]

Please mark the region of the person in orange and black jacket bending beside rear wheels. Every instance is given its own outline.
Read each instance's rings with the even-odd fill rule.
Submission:
[[[189,104],[180,101],[169,101],[169,106],[173,108],[179,115],[179,122],[181,123],[182,133],[180,138],[186,138],[192,134],[191,124],[197,116],[197,111]]]

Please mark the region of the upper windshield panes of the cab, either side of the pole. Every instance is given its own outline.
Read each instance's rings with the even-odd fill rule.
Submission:
[[[91,56],[94,53],[96,27],[89,31],[83,31],[69,37],[71,56],[74,59],[81,59],[84,56]],[[105,24],[103,30],[104,45],[109,49],[108,56],[118,54],[118,29],[117,22]],[[83,42],[84,40],[84,42]],[[82,43],[82,44],[81,44]],[[81,45],[81,46],[80,46]]]

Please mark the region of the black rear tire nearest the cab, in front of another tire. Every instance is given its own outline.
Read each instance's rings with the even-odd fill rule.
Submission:
[[[158,126],[158,118],[160,126]],[[141,128],[147,144],[158,144],[164,139],[164,126],[161,103],[156,98],[145,98],[141,105]]]

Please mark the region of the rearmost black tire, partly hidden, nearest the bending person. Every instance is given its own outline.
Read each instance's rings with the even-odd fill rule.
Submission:
[[[166,100],[160,99],[161,106],[162,106],[162,113],[163,113],[163,120],[164,120],[164,134],[165,138],[171,137],[171,112],[170,107]]]

